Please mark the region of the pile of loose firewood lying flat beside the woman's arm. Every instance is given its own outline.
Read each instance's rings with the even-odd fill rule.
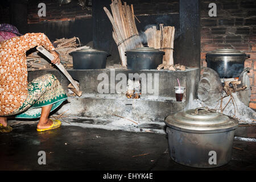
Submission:
[[[78,43],[77,43],[78,40]],[[65,68],[73,68],[73,57],[69,55],[70,52],[78,51],[80,49],[89,48],[88,46],[81,46],[79,38],[73,37],[71,39],[56,39],[55,50],[60,54],[60,62]],[[38,55],[38,51],[27,56],[28,71],[36,71],[38,69],[51,69],[52,64],[48,60]]]

